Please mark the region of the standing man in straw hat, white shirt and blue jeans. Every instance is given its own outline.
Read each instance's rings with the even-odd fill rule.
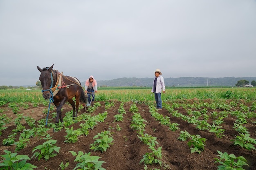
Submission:
[[[161,92],[165,93],[164,77],[161,76],[162,73],[160,69],[155,71],[155,79],[151,92],[155,93],[155,101],[157,102],[157,109],[162,110],[162,99]]]

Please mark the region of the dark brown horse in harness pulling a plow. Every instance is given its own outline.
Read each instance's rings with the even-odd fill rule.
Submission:
[[[61,115],[61,108],[66,102],[69,102],[73,108],[73,117],[77,117],[79,103],[84,104],[87,102],[87,95],[81,86],[81,82],[71,76],[65,76],[63,73],[59,73],[58,70],[53,70],[53,65],[41,69],[37,66],[40,71],[39,80],[42,85],[42,95],[44,99],[50,99],[50,102],[56,106],[57,117],[55,123],[63,122]],[[73,101],[75,97],[76,104]]]

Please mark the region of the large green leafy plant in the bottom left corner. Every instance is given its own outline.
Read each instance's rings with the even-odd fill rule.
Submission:
[[[5,155],[1,155],[4,160],[0,163],[0,170],[33,170],[37,166],[27,163],[30,160],[27,155],[17,155],[18,153],[11,153],[9,150],[4,150]]]

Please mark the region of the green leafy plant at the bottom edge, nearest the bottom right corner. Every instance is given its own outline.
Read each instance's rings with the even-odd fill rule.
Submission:
[[[218,151],[218,158],[214,158],[216,161],[214,163],[220,163],[220,166],[218,167],[218,170],[245,170],[243,169],[243,166],[247,165],[247,160],[243,157],[236,157],[234,154],[228,155],[227,152],[220,152]]]

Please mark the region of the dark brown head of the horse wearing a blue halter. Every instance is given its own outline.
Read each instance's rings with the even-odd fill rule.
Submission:
[[[50,93],[50,88],[52,85],[51,71],[52,71],[53,65],[54,64],[52,64],[52,66],[50,67],[46,67],[43,69],[37,66],[37,69],[41,72],[39,80],[43,88],[43,97],[45,99],[50,99],[51,97],[51,93]]]

